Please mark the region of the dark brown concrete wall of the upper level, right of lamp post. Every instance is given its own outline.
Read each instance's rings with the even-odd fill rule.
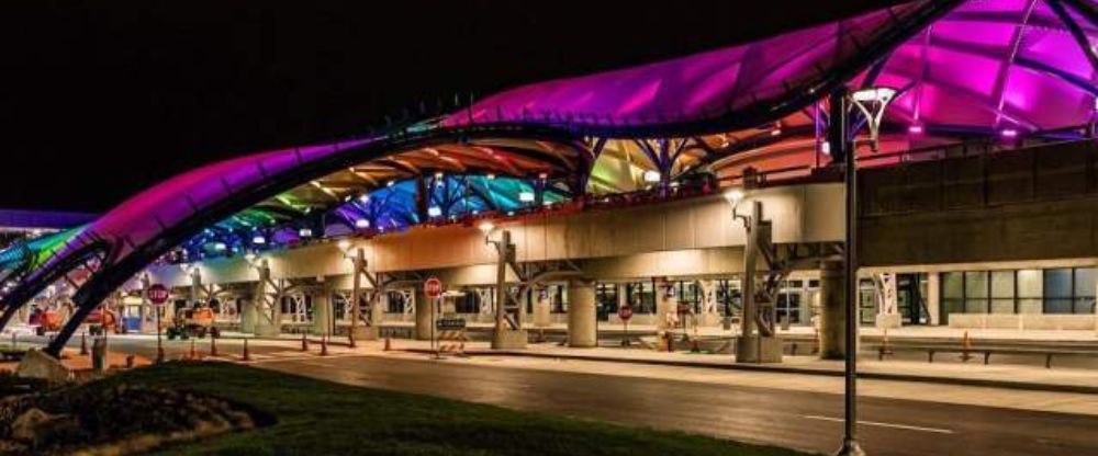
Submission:
[[[863,265],[1098,256],[1098,146],[864,170]]]

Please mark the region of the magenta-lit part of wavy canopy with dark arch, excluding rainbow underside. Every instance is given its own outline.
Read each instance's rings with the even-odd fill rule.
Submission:
[[[394,157],[416,149],[442,160],[447,157],[433,146],[470,138],[533,137],[582,149],[592,137],[721,134],[804,115],[836,89],[871,84],[900,91],[889,123],[984,133],[1078,126],[1091,121],[1098,93],[1095,5],[1094,0],[914,1],[754,43],[516,88],[414,129],[213,163],[108,212],[3,303],[23,304],[80,256],[99,251],[102,265],[76,297],[81,309],[97,305],[220,218],[348,167],[384,162],[406,174],[428,172]],[[552,169],[561,172],[591,172],[590,151],[561,150],[508,153],[556,163]],[[477,159],[500,157],[485,148]],[[450,161],[457,169],[466,164]]]

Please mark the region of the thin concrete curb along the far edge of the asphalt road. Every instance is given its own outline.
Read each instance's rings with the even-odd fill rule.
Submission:
[[[423,353],[423,354],[434,353],[433,351],[425,349],[405,349],[401,351],[408,353]],[[568,355],[568,354],[502,351],[502,350],[501,351],[467,350],[464,354],[468,356],[522,356],[522,357],[556,358],[556,360],[596,361],[596,362],[607,362],[607,363],[645,364],[653,366],[694,367],[694,368],[724,369],[724,371],[747,371],[747,372],[765,372],[765,373],[776,373],[776,374],[816,375],[821,377],[843,376],[842,371],[817,369],[817,368],[792,367],[792,366],[786,367],[786,366],[775,366],[765,364],[724,364],[724,363],[709,363],[704,361],[694,362],[694,361],[672,361],[672,360],[637,360],[637,358],[630,360],[630,358],[620,358],[613,356]],[[976,386],[985,388],[1017,389],[1023,391],[1078,392],[1085,395],[1098,395],[1098,386],[1085,386],[1085,385],[1055,385],[1055,384],[1042,384],[1032,381],[991,380],[983,378],[955,378],[955,377],[940,377],[940,376],[929,376],[929,375],[887,374],[887,373],[866,373],[866,372],[859,373],[858,378],[872,379],[872,380],[890,380],[890,381],[916,381],[916,383],[939,384],[939,385]]]

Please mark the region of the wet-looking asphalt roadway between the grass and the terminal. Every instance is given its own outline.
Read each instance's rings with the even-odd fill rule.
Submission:
[[[209,341],[198,342],[205,351]],[[155,342],[115,339],[149,356]],[[168,344],[177,357],[189,343]],[[238,346],[227,350],[238,351]],[[255,354],[285,352],[256,345]],[[681,430],[832,453],[842,396],[788,389],[507,367],[506,363],[369,355],[268,357],[254,365],[349,385]],[[629,365],[623,365],[628,369]],[[871,455],[1098,455],[1098,417],[910,399],[861,398],[860,438]],[[369,410],[363,410],[369,413]],[[597,445],[592,442],[592,445]]]

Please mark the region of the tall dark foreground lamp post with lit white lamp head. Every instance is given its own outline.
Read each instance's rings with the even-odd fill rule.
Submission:
[[[853,104],[865,117],[870,129],[870,147],[878,148],[881,121],[885,107],[896,96],[890,88],[865,88],[852,94],[836,93],[831,98],[831,123],[829,141],[831,150],[840,153],[844,161],[844,183],[847,196],[847,236],[843,249],[843,265],[847,274],[847,328],[845,328],[845,373],[844,420],[840,456],[863,456],[865,452],[858,442],[858,157],[856,145],[849,140],[848,107]]]

